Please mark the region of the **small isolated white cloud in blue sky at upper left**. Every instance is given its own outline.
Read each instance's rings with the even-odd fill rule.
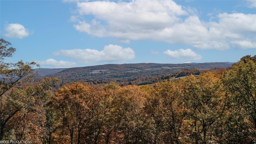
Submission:
[[[22,24],[7,24],[4,28],[4,36],[8,38],[24,38],[33,34],[32,31],[26,29]]]

